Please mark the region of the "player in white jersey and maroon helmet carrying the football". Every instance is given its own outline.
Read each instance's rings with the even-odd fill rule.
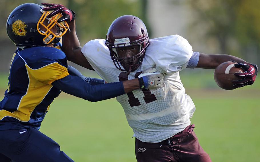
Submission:
[[[55,12],[61,12],[56,9]],[[184,68],[216,68],[234,60],[244,68],[235,87],[253,84],[257,66],[231,55],[193,52],[189,42],[179,35],[149,40],[144,23],[132,15],[121,16],[110,25],[107,39],[95,39],[81,48],[75,32],[63,37],[67,59],[95,70],[107,82],[140,77],[145,69],[165,74],[161,88],[135,90],[117,97],[133,128],[138,162],[211,161],[199,145],[191,125],[195,106],[185,94],[179,71]],[[151,82],[150,84],[153,84]]]

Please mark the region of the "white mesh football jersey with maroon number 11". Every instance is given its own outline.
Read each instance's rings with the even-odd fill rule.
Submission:
[[[104,39],[87,42],[81,51],[101,78],[119,82],[122,71],[115,67]],[[179,35],[150,40],[143,63],[128,79],[153,67],[165,73],[163,86],[150,91],[138,89],[117,97],[134,137],[143,142],[161,142],[190,125],[195,106],[185,94],[179,71],[186,68],[192,54],[188,41]]]

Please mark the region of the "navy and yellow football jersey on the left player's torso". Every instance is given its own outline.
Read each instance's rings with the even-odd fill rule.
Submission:
[[[55,47],[17,48],[0,102],[0,130],[18,125],[40,128],[49,105],[61,92],[52,83],[69,75],[65,54],[59,45]]]

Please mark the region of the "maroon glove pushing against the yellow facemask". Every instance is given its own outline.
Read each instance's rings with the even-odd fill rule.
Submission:
[[[76,14],[61,4],[53,4],[53,3],[41,3],[41,4],[47,6],[46,8],[43,8],[43,11],[52,11],[53,10],[53,12],[47,16],[48,19],[50,17],[53,17],[57,13],[62,14],[62,17],[58,19],[58,23],[60,23],[62,21],[71,22],[75,19]]]

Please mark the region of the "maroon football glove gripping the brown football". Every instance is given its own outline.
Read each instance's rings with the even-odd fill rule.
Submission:
[[[255,64],[240,63],[240,64],[235,64],[235,67],[242,68],[242,69],[244,69],[245,72],[235,73],[235,76],[243,77],[243,79],[233,80],[233,83],[235,83],[235,85],[233,86],[234,88],[251,85],[255,82],[255,78],[256,78],[257,70],[258,70],[258,68]]]

